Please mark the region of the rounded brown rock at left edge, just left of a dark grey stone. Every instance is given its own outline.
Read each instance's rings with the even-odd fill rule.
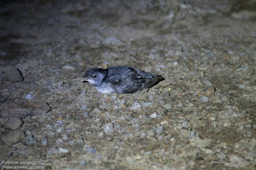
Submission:
[[[2,136],[1,140],[5,144],[17,144],[20,140],[25,137],[25,134],[22,130],[16,129],[9,132],[7,135]]]

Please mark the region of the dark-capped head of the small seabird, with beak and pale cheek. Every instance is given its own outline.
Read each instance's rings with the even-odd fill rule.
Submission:
[[[89,83],[92,83],[92,85],[98,86],[101,84],[105,76],[106,70],[100,68],[91,68],[85,72],[80,81],[88,81]]]

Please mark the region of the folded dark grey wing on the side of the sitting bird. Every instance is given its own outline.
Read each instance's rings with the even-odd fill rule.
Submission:
[[[134,93],[141,90],[145,84],[145,78],[131,69],[126,75],[113,78],[110,81],[110,87],[119,93]]]

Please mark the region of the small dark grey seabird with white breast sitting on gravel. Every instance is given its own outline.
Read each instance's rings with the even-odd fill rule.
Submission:
[[[157,73],[148,73],[129,66],[114,66],[107,69],[91,68],[80,81],[88,81],[101,93],[135,93],[150,88],[164,80]]]

